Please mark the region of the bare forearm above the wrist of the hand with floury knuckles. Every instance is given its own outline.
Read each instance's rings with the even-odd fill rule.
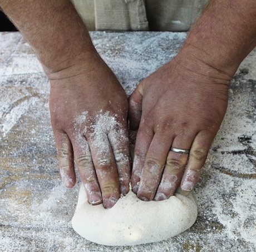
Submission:
[[[69,0],[0,0],[0,7],[31,44],[48,75],[95,52]]]

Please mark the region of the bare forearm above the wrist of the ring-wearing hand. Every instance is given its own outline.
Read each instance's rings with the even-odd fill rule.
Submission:
[[[183,50],[232,76],[256,46],[256,1],[211,0]]]

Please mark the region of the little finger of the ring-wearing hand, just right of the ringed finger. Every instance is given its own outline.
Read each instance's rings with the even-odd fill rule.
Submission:
[[[203,168],[207,158],[210,145],[213,142],[214,134],[206,132],[206,130],[199,132],[191,146],[189,153],[189,162],[186,165],[183,179],[181,180],[181,189],[184,191],[191,191],[194,189],[199,178],[201,168]]]

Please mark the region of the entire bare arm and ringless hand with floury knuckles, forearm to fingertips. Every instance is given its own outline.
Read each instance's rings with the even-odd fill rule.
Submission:
[[[129,191],[127,98],[97,54],[70,0],[0,0],[51,81],[50,110],[63,182],[76,161],[91,204],[111,208]]]

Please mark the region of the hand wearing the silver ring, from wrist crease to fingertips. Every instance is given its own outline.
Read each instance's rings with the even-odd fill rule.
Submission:
[[[140,199],[167,199],[180,183],[186,191],[195,187],[227,108],[230,79],[180,53],[137,86],[129,117],[139,128],[131,183]]]

